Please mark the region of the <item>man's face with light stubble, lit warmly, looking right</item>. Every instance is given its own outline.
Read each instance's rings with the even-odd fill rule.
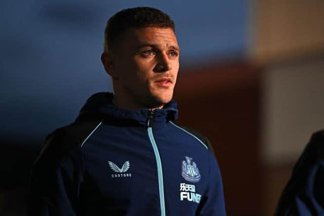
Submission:
[[[114,55],[115,94],[130,108],[161,108],[170,102],[179,70],[179,46],[171,28],[130,29]]]

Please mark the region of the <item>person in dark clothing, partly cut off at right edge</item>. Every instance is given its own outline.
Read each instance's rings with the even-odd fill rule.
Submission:
[[[278,202],[276,216],[324,215],[324,130],[314,133]]]

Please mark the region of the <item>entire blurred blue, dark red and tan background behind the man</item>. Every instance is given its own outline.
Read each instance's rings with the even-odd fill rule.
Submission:
[[[115,12],[156,7],[176,22],[179,123],[207,135],[229,216],[272,215],[293,164],[324,127],[324,1],[2,1],[0,215],[24,215],[47,134],[93,93]]]

